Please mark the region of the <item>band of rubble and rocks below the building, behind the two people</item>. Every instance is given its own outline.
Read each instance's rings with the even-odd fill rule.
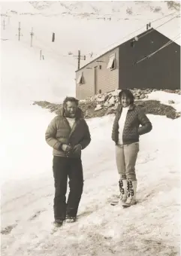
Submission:
[[[159,101],[149,100],[148,93],[151,93],[153,89],[131,89],[134,94],[135,104],[143,108],[146,114],[164,115],[168,118],[175,119],[180,118],[180,113],[176,113],[171,104],[173,100],[167,101],[167,105],[162,105]],[[80,100],[80,108],[83,110],[85,118],[101,117],[106,114],[115,114],[119,105],[118,93],[121,90],[115,90],[112,93],[98,94],[96,96],[89,97],[87,99]],[[154,90],[158,91],[158,90]],[[162,90],[164,92],[172,92],[181,94],[180,90]],[[171,97],[170,97],[171,98]],[[144,100],[143,99],[148,99]],[[50,102],[35,102],[34,104],[47,108],[51,112],[60,114],[61,104],[53,104]]]

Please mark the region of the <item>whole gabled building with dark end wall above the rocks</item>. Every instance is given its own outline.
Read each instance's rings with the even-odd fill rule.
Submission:
[[[76,71],[76,96],[85,99],[122,88],[180,89],[180,46],[155,29],[131,38]]]

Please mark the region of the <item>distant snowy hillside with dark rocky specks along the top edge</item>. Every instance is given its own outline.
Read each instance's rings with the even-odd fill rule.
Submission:
[[[11,8],[9,8],[11,4]],[[140,17],[143,12],[151,16],[158,13],[164,15],[167,11],[179,11],[180,2],[176,1],[131,1],[131,2],[60,2],[60,1],[30,1],[30,2],[2,2],[2,12],[17,14],[86,14],[92,17]]]

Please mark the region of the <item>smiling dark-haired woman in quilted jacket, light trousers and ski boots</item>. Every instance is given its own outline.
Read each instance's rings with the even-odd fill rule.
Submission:
[[[123,207],[129,207],[136,203],[135,163],[139,151],[139,136],[149,133],[152,123],[142,109],[134,105],[134,96],[130,90],[125,89],[119,93],[119,102],[121,104],[116,111],[112,139],[116,143],[120,200]]]

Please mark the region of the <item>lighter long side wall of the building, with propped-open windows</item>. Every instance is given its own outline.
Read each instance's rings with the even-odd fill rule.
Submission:
[[[110,55],[113,53],[116,54],[116,69],[110,71],[107,69],[107,64],[110,59]],[[102,62],[98,62],[102,61]],[[79,75],[83,72],[83,78],[85,84],[77,84],[76,83],[76,96],[77,99],[85,99],[89,96],[95,95],[95,75],[94,68],[95,66],[101,65],[101,69],[98,69],[97,76],[97,91],[96,94],[99,93],[107,93],[112,90],[116,90],[119,87],[119,47],[114,50],[111,50],[108,53],[105,53],[104,56],[101,56],[98,59],[95,59],[94,62],[89,63],[85,68],[80,69],[80,71],[76,72],[76,81]]]

